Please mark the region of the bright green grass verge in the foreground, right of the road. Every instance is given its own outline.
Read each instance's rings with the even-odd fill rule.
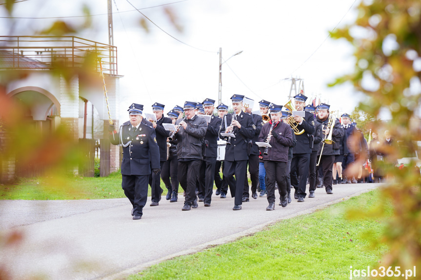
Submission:
[[[372,248],[362,237],[369,232],[370,238],[379,238],[384,221],[345,218],[348,207],[362,212],[376,207],[378,195],[370,191],[235,242],[164,261],[128,279],[349,279],[350,265],[374,267],[387,249]],[[386,211],[391,215],[391,208]]]

